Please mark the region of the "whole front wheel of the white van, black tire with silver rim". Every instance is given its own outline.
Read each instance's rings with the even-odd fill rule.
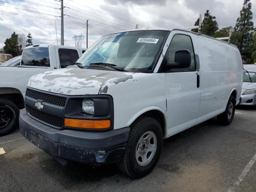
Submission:
[[[151,117],[140,118],[131,126],[124,155],[117,166],[127,176],[141,178],[156,166],[162,146],[163,133],[159,122]]]

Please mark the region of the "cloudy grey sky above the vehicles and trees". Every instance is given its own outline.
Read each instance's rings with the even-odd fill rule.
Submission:
[[[74,35],[84,35],[88,47],[113,32],[142,28],[193,26],[206,10],[219,28],[235,26],[244,0],[64,0],[64,45],[74,46]],[[256,0],[252,2],[256,26]],[[60,44],[60,2],[56,0],[0,0],[0,48],[13,32],[32,34],[33,44]],[[55,25],[56,22],[56,25]]]

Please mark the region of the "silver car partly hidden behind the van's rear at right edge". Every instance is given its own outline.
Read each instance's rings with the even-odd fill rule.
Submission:
[[[256,65],[244,65],[240,105],[256,105]]]

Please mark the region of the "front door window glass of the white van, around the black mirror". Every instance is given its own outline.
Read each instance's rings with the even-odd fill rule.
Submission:
[[[181,34],[174,35],[168,47],[168,50],[164,56],[164,61],[174,62],[175,52],[180,49],[190,50],[191,65],[188,68],[171,69],[170,72],[195,71],[196,67],[195,67],[195,59],[194,59],[194,49],[193,49],[191,38],[190,36],[187,36],[187,35],[181,35]]]

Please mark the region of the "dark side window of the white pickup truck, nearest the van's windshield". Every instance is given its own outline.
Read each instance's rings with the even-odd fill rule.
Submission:
[[[74,49],[59,49],[59,57],[61,68],[76,62],[79,58],[77,50]]]

